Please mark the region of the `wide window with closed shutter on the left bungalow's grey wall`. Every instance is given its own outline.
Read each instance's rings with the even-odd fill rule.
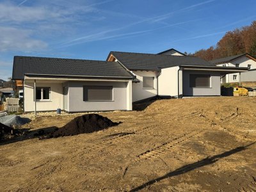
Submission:
[[[113,101],[113,86],[83,86],[84,101]]]

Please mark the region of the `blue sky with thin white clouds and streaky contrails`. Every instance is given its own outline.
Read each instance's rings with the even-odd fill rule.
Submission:
[[[110,51],[195,52],[256,20],[255,0],[1,0],[0,79],[13,56],[106,60]]]

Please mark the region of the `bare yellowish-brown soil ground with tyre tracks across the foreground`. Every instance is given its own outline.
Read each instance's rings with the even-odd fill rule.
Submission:
[[[122,122],[104,131],[0,143],[1,191],[256,191],[256,98],[136,108],[100,113]],[[76,116],[38,116],[24,128]]]

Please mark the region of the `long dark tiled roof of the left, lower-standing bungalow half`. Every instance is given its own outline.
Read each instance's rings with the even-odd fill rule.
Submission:
[[[25,74],[133,78],[118,62],[14,56],[12,79],[24,79]]]

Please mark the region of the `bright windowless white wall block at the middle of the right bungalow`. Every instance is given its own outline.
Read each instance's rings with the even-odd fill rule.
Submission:
[[[178,96],[178,70],[179,67],[163,68],[158,77],[158,95],[160,96]],[[180,71],[182,77],[182,71]],[[182,78],[180,79],[182,85]],[[182,95],[182,86],[180,86],[180,95]]]

